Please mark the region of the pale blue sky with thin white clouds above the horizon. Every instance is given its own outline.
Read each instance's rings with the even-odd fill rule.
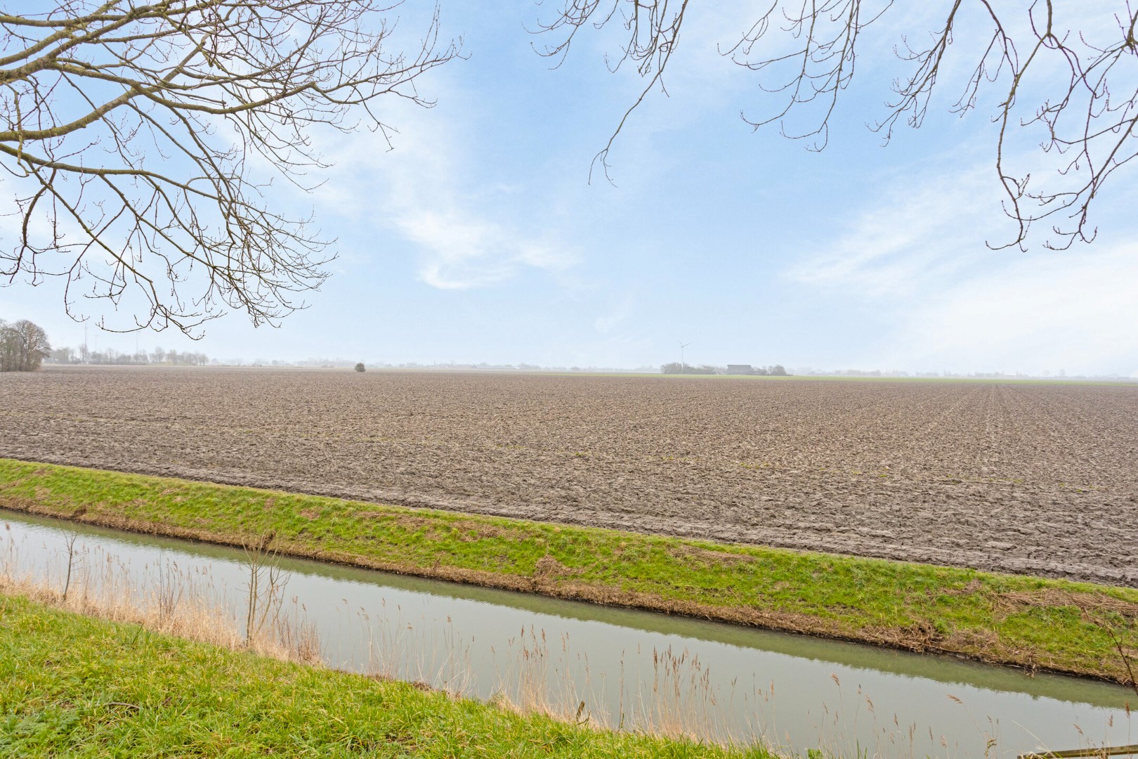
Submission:
[[[551,71],[523,28],[541,8],[444,2],[444,30],[469,59],[422,80],[437,107],[388,104],[394,149],[368,132],[325,139],[328,182],[273,198],[311,208],[338,238],[310,308],[279,329],[231,313],[197,344],[168,331],[139,343],[222,358],[633,368],[678,360],[683,340],[693,363],[1138,374],[1133,170],[1103,197],[1092,245],[1056,253],[1033,237],[1026,251],[990,250],[986,240],[1012,233],[991,102],[959,118],[946,81],[922,129],[882,147],[865,127],[901,71],[890,46],[930,19],[877,30],[828,147],[810,152],[739,117],[766,101],[715,43],[742,30],[747,5],[696,8],[670,97],[629,119],[615,184],[589,184],[641,85],[605,71],[612,38],[582,38]],[[1115,5],[1069,7],[1102,24]],[[413,7],[404,16],[405,33],[418,28]],[[1016,145],[1028,170],[1041,160],[1036,138]],[[0,289],[0,317],[22,316],[57,345],[83,339],[51,284]]]

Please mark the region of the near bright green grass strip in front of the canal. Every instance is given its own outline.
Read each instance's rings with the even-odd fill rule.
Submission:
[[[0,596],[0,754],[768,757],[596,731]]]

